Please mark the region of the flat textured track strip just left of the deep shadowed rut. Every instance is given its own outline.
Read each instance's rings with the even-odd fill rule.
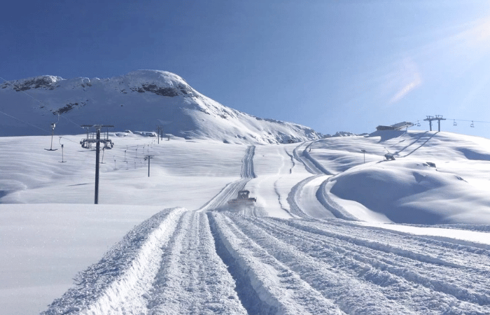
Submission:
[[[216,253],[206,214],[183,214],[164,252],[148,293],[148,315],[246,314],[235,281]]]

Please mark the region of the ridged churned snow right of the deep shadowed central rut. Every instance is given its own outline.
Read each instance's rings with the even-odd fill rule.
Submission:
[[[342,221],[210,218],[260,314],[489,314],[489,251]]]

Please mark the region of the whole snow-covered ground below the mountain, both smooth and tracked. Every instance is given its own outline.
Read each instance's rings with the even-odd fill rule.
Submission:
[[[2,314],[490,314],[489,139],[82,137],[0,138]]]

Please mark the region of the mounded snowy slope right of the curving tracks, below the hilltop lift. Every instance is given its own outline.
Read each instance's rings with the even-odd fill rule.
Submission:
[[[384,160],[387,151],[396,160]],[[310,154],[336,174],[325,192],[352,201],[344,202],[351,209],[395,223],[490,223],[489,139],[385,131],[317,141]]]

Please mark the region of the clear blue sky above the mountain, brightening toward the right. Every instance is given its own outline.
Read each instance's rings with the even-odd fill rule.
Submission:
[[[490,1],[8,1],[0,26],[6,80],[158,69],[324,134],[443,115],[490,138]]]

